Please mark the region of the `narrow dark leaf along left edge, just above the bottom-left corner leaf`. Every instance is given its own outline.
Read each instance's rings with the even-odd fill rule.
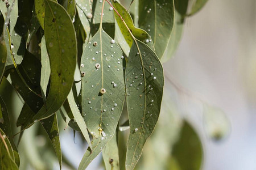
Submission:
[[[6,81],[3,80],[3,81]],[[3,130],[3,133],[5,133],[7,135],[7,138],[9,138],[9,142],[11,144],[11,147],[13,148],[13,154],[14,154],[14,161],[16,163],[16,165],[19,166],[19,154],[18,154],[18,150],[15,146],[15,143],[13,141],[13,133],[11,131],[11,124],[10,124],[10,118],[9,118],[9,113],[7,111],[5,102],[2,99],[2,96],[0,96],[0,107],[1,107],[1,111],[0,114],[2,115],[2,118],[0,118],[0,129]]]

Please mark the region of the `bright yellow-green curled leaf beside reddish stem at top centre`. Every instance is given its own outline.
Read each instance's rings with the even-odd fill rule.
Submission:
[[[113,6],[118,11],[119,15],[122,16],[123,20],[129,27],[130,31],[133,33],[136,39],[147,43],[148,46],[152,50],[155,50],[154,44],[151,40],[151,37],[148,35],[146,31],[140,28],[136,28],[133,24],[133,19],[131,19],[131,15],[129,12],[127,13],[125,7],[123,7],[118,1],[112,1]],[[131,47],[133,45],[133,37],[130,35],[129,31],[125,27],[125,25],[122,23],[122,19],[119,18],[118,14],[115,13],[115,19],[117,20],[117,23],[119,25],[119,28],[121,29],[121,32],[123,34],[123,37],[125,37],[125,40],[127,41],[127,44]]]

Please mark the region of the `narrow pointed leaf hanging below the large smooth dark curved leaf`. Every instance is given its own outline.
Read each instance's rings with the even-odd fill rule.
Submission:
[[[61,169],[62,155],[61,155],[61,148],[60,148],[59,127],[57,123],[56,113],[46,118],[45,120],[42,120],[41,124],[44,126],[44,130],[46,130],[48,137],[52,142],[52,145],[55,149],[57,158],[59,160],[60,169]]]

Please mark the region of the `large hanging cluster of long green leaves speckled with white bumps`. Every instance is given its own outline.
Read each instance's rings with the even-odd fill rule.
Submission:
[[[159,118],[161,61],[174,54],[185,18],[206,2],[135,0],[126,10],[107,0],[1,1],[0,89],[11,84],[24,101],[16,121],[19,138],[40,122],[61,168],[61,116],[89,145],[79,169],[101,151],[106,169],[119,169],[117,131],[127,124],[125,168],[134,169]],[[80,80],[74,81],[77,67]],[[79,83],[81,89],[76,88]],[[1,95],[0,104],[0,167],[18,169],[19,154]],[[127,121],[119,125],[125,113]]]

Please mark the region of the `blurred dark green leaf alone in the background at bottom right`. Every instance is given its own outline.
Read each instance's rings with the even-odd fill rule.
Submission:
[[[200,169],[203,161],[203,146],[199,136],[192,126],[184,121],[180,132],[180,139],[172,150],[172,159],[175,159],[179,169]]]

